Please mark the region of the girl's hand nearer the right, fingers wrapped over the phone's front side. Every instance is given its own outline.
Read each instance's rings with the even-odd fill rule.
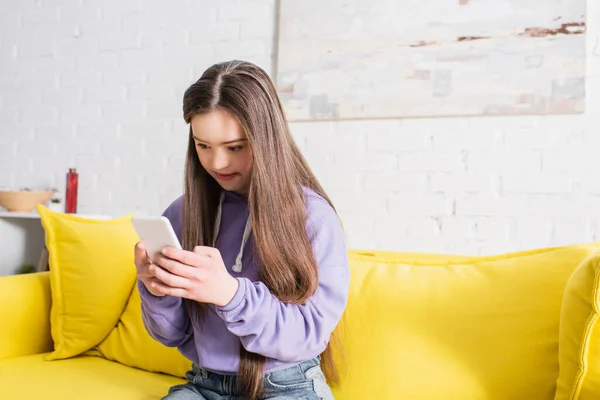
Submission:
[[[165,247],[154,262],[150,271],[160,282],[151,285],[159,293],[222,307],[238,290],[238,280],[214,247],[196,246],[194,251]]]

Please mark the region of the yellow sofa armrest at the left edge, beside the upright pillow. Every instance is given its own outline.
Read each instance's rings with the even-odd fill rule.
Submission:
[[[0,277],[0,360],[52,351],[50,273]]]

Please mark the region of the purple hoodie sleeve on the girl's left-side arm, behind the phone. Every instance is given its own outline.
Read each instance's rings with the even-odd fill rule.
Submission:
[[[179,238],[181,205],[181,198],[177,199],[163,213]],[[154,296],[139,279],[137,285],[142,302],[142,321],[150,336],[169,347],[179,347],[190,340],[192,326],[183,300],[174,296]]]

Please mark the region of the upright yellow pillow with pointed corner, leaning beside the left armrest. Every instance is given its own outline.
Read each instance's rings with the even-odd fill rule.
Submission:
[[[119,321],[135,283],[131,216],[92,220],[38,206],[49,253],[49,360],[73,357],[100,343]]]

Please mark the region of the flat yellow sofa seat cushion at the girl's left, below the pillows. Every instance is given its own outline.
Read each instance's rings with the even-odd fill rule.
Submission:
[[[0,361],[0,399],[150,400],[184,382],[99,357],[48,361],[48,355]]]

